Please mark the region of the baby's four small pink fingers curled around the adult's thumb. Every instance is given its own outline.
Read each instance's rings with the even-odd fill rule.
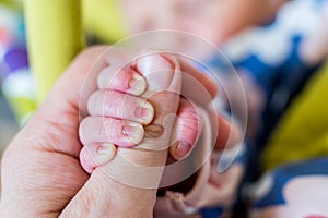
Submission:
[[[97,90],[87,101],[90,113],[80,124],[84,147],[80,160],[87,172],[110,161],[116,146],[133,147],[144,135],[142,125],[154,117],[153,106],[141,95],[144,77],[132,66],[109,65],[97,76]]]

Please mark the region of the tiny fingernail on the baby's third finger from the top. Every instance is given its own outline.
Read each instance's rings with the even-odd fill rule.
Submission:
[[[144,134],[142,125],[136,122],[126,122],[121,132],[136,145],[142,141]]]

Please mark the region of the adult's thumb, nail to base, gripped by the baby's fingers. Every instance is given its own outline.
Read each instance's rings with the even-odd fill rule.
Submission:
[[[154,106],[153,122],[137,148],[118,148],[116,157],[96,169],[62,216],[152,217],[179,104],[180,72],[173,57],[141,51],[133,68],[148,81],[142,97]]]

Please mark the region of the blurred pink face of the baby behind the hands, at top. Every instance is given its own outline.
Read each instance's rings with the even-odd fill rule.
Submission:
[[[195,34],[214,45],[245,27],[267,21],[286,0],[120,0],[130,34],[176,29]],[[181,51],[195,48],[177,39]],[[187,52],[188,53],[188,52]]]

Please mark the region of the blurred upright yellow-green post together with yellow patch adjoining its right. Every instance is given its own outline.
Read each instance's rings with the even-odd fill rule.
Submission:
[[[24,10],[38,102],[82,49],[83,26],[104,43],[126,35],[117,0],[25,0]]]

